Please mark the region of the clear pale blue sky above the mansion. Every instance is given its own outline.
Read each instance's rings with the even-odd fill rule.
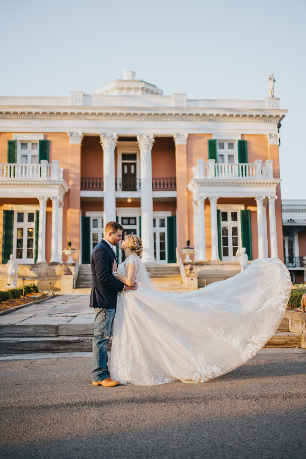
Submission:
[[[0,95],[92,93],[124,68],[189,98],[265,99],[281,128],[283,199],[306,199],[306,2],[1,1]]]

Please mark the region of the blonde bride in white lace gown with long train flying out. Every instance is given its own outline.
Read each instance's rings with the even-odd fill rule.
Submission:
[[[156,291],[127,235],[125,260],[113,274],[135,291],[117,296],[111,378],[122,384],[204,382],[244,364],[278,329],[291,280],[278,258],[254,260],[227,280],[187,292]]]

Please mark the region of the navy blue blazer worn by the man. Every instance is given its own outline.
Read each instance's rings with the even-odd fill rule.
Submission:
[[[112,275],[112,264],[117,257],[107,244],[101,241],[95,246],[90,255],[92,289],[90,293],[90,308],[114,309],[117,305],[117,292],[124,288],[123,282]]]

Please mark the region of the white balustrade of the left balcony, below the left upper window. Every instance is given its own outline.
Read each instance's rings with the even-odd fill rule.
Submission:
[[[46,160],[40,164],[0,164],[0,180],[62,180],[64,169],[58,164],[58,160],[53,160],[51,164]]]

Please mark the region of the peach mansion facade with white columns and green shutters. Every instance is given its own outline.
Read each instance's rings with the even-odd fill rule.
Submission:
[[[91,95],[0,106],[1,279],[13,253],[60,288],[67,241],[88,264],[110,220],[142,238],[146,263],[177,263],[189,240],[209,281],[239,272],[241,247],[284,259],[279,99],[163,95],[126,70]]]

